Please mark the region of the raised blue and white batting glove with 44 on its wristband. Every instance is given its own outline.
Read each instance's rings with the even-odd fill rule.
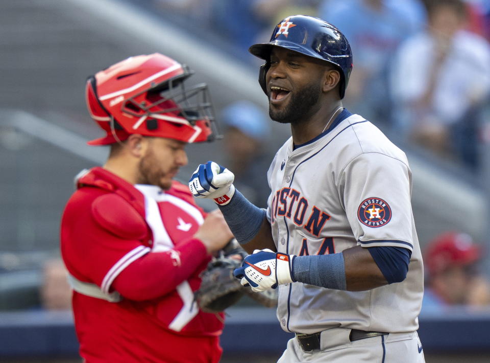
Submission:
[[[214,199],[220,206],[227,205],[233,194],[235,175],[227,168],[207,162],[195,169],[189,179],[189,189],[196,198]]]

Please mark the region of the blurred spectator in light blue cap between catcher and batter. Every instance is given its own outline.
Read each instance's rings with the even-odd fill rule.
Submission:
[[[226,165],[235,174],[235,186],[258,207],[266,207],[271,193],[266,173],[272,156],[265,154],[269,122],[264,112],[248,101],[238,101],[222,112],[225,125]]]

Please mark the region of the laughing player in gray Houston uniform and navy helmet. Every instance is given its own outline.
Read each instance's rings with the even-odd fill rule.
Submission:
[[[267,210],[213,162],[189,186],[218,203],[252,253],[235,276],[256,291],[279,290],[279,323],[296,334],[279,362],[424,362],[411,172],[376,126],[342,107],[347,39],[326,21],[296,15],[250,52],[265,60],[259,83],[269,116],[292,134],[267,173]]]

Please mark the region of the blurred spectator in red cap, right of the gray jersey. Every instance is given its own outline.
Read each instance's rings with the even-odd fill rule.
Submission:
[[[490,304],[490,284],[477,268],[481,258],[468,234],[448,232],[433,239],[424,256],[428,274],[422,309]]]

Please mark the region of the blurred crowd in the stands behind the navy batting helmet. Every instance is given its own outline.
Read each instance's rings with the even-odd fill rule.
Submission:
[[[153,0],[246,55],[287,15],[318,16],[349,39],[344,104],[416,150],[478,171],[488,122],[489,0]],[[419,148],[420,147],[420,148]]]

